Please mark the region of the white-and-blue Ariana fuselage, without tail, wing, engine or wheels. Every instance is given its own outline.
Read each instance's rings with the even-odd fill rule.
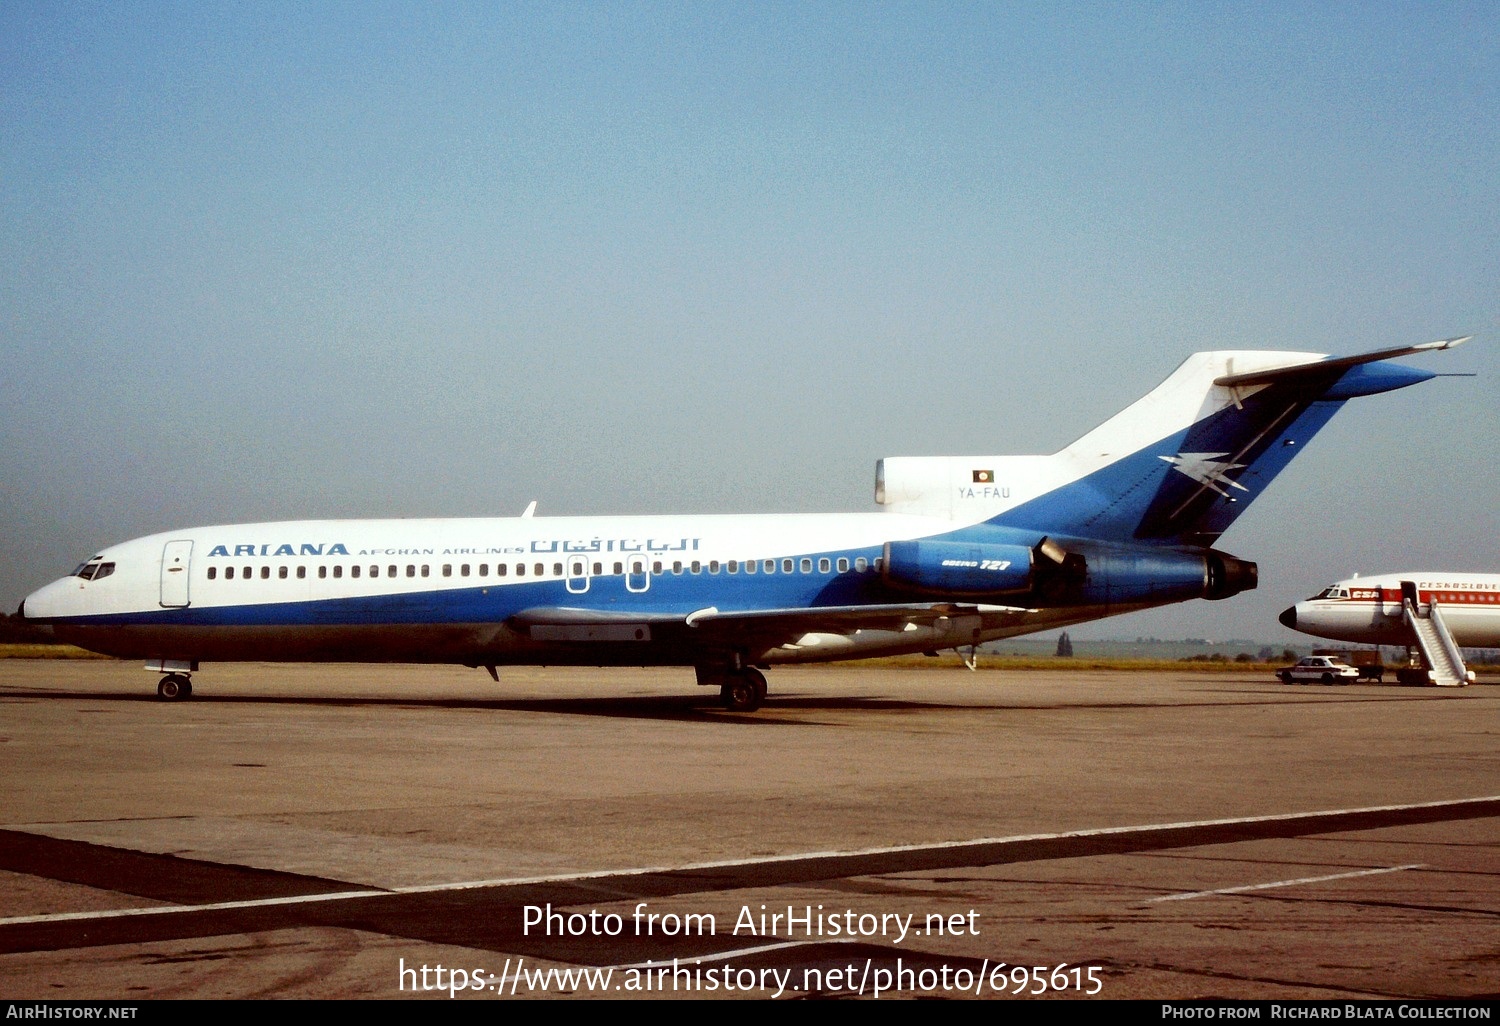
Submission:
[[[951,520],[890,513],[237,524],[104,549],[80,567],[87,578],[42,588],[22,612],[64,640],[147,658],[693,664],[705,633],[694,614],[910,606],[914,590],[888,580],[885,546],[952,532]],[[1020,534],[1016,549],[1041,538]],[[1194,561],[1188,586],[1202,591]],[[984,603],[1005,622],[978,633],[915,614],[795,638],[776,624],[746,662],[972,645],[1160,604],[1098,598]]]

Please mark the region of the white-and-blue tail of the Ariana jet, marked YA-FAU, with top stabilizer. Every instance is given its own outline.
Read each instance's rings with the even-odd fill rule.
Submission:
[[[1466,340],[1338,358],[1196,352],[1059,453],[882,460],[880,498],[886,508],[969,524],[1214,544],[1347,399],[1436,376],[1382,362]]]

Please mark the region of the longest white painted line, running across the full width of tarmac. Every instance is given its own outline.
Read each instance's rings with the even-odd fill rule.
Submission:
[[[230,912],[243,909],[264,909],[274,906],[302,906],[302,904],[320,904],[332,902],[348,902],[357,898],[382,898],[382,897],[388,898],[394,896],[472,891],[480,888],[513,888],[513,886],[534,886],[546,884],[574,884],[574,882],[590,882],[590,880],[628,880],[633,878],[702,873],[712,870],[746,868],[754,866],[777,866],[788,862],[818,862],[825,860],[854,861],[861,858],[882,858],[882,856],[903,855],[903,854],[954,852],[954,850],[963,850],[966,848],[980,849],[980,848],[999,848],[999,846],[1024,846],[1036,843],[1046,844],[1052,842],[1089,840],[1098,837],[1130,837],[1131,834],[1146,836],[1146,834],[1161,834],[1166,831],[1212,830],[1216,826],[1250,826],[1257,824],[1258,825],[1296,824],[1300,820],[1312,820],[1320,818],[1334,819],[1344,816],[1370,816],[1378,813],[1410,813],[1419,810],[1438,810],[1438,808],[1449,808],[1460,806],[1476,806],[1485,802],[1500,802],[1500,795],[1486,795],[1484,798],[1455,798],[1449,801],[1422,801],[1404,806],[1370,806],[1365,808],[1332,808],[1332,810],[1324,808],[1320,812],[1288,813],[1281,816],[1239,816],[1232,819],[1200,819],[1190,822],[1148,824],[1137,826],[1101,826],[1096,830],[1070,830],[1050,834],[1017,834],[1014,837],[981,837],[974,840],[938,842],[932,844],[897,844],[888,848],[866,848],[856,850],[798,852],[792,855],[770,855],[764,858],[735,858],[735,860],[722,860],[712,862],[688,862],[686,866],[654,866],[648,868],[624,868],[624,870],[616,868],[616,870],[597,870],[590,873],[558,873],[549,876],[519,876],[519,878],[496,878],[486,880],[460,880],[453,884],[422,884],[412,886],[396,886],[388,890],[362,888],[354,891],[250,898],[244,902],[214,902],[206,904],[158,904],[158,906],[134,908],[134,909],[99,909],[93,912],[52,912],[46,915],[21,915],[21,916],[0,918],[0,927],[50,924],[50,922],[124,920],[134,916],[183,915],[192,912]],[[1338,824],[1329,825],[1329,832],[1334,832],[1336,830],[1340,830]],[[1230,840],[1234,838],[1226,838],[1221,842],[1203,840],[1197,843],[1203,844],[1228,843]],[[1078,852],[1076,856],[1088,856],[1090,852]],[[1053,858],[1058,858],[1058,855],[1053,855]],[[914,866],[910,868],[892,870],[892,872],[916,872],[918,868],[920,867]],[[838,874],[846,876],[849,873],[840,872]],[[868,870],[858,872],[855,874],[868,874]]]

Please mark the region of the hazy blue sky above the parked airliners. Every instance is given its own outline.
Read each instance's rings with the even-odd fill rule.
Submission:
[[[873,508],[1188,352],[1476,333],[1222,540],[1500,570],[1500,6],[0,4],[0,602],[170,528]]]

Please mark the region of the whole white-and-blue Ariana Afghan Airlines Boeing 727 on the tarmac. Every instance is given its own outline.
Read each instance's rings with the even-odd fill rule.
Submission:
[[[1050,456],[886,458],[876,513],[298,520],[104,549],[21,615],[150,660],[693,666],[732,710],[772,663],[963,648],[1256,586],[1212,548],[1347,399],[1434,376],[1224,351]]]

